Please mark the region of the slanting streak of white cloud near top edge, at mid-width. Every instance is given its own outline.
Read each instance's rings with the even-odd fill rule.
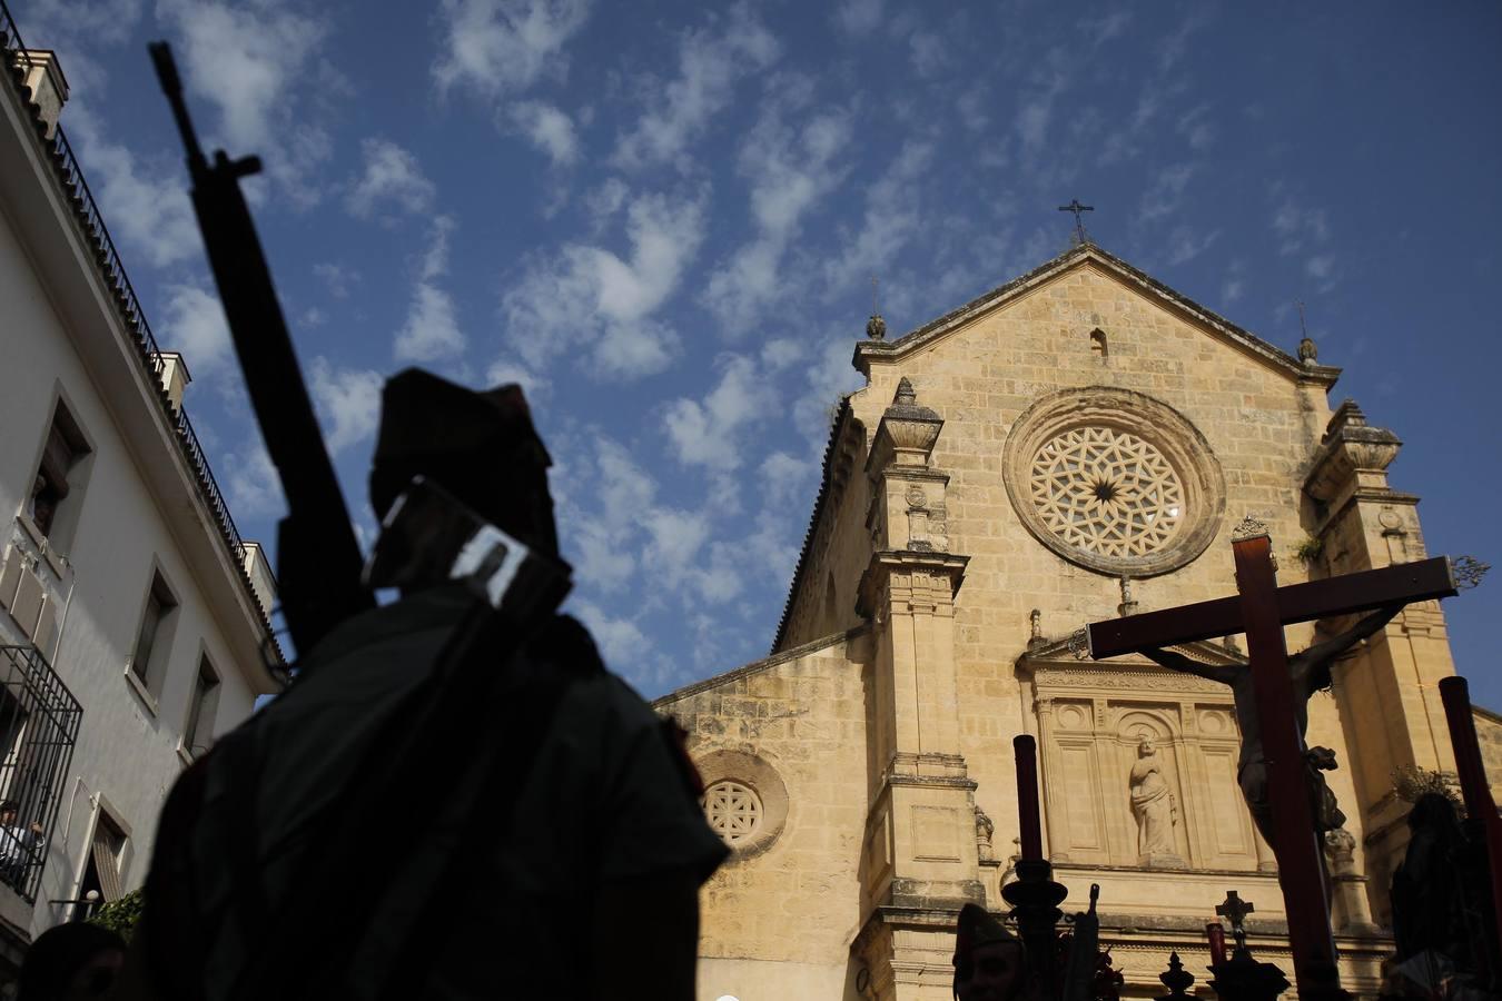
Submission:
[[[743,77],[771,66],[781,47],[745,6],[731,9],[722,30],[686,32],[679,72],[652,87],[653,107],[620,137],[613,161],[626,168],[676,164],[685,147],[722,111]]]

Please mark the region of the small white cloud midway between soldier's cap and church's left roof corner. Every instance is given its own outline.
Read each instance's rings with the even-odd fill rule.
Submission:
[[[703,401],[668,404],[662,426],[679,462],[725,471],[740,465],[739,434],[772,417],[775,408],[769,380],[749,357],[736,354],[724,360],[719,383]]]

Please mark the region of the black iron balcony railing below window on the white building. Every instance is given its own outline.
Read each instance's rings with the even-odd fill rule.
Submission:
[[[36,647],[0,647],[0,882],[36,902],[83,708]]]

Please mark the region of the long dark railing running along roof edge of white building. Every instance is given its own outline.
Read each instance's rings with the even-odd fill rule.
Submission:
[[[29,101],[30,95],[24,80],[32,60],[27,56],[26,44],[21,41],[21,33],[5,0],[0,0],[0,57],[3,57],[3,69],[11,77],[11,84],[21,93],[23,99]],[[260,608],[255,588],[251,587],[251,578],[245,569],[245,542],[240,539],[240,531],[230,516],[230,506],[225,503],[222,491],[219,491],[219,483],[213,479],[213,470],[209,468],[209,459],[204,456],[203,446],[198,444],[198,435],[192,429],[192,422],[188,420],[188,413],[182,407],[173,405],[167,396],[167,390],[162,386],[162,350],[156,344],[152,324],[146,320],[146,311],[141,309],[141,300],[131,285],[131,278],[125,273],[125,263],[120,260],[120,252],[116,249],[114,240],[110,237],[110,230],[104,224],[99,204],[95,201],[93,192],[89,191],[89,182],[84,180],[84,173],[78,165],[78,158],[74,155],[74,147],[68,143],[68,135],[62,126],[57,126],[48,135],[47,126],[41,120],[36,120],[36,135],[53,164],[53,171],[57,183],[62,186],[63,195],[74,209],[84,239],[93,251],[95,264],[99,267],[99,273],[113,294],[116,311],[131,336],[135,357],[141,365],[141,374],[156,392],[158,402],[173,428],[176,428],[177,446],[182,449],[183,458],[188,461],[198,482],[198,491],[213,516],[219,537],[224,539],[224,545],[230,549],[230,555],[251,602]],[[269,608],[261,608],[261,618],[267,629],[270,629]],[[270,644],[272,647],[276,645],[275,638],[272,638]],[[276,653],[279,656],[279,651]]]

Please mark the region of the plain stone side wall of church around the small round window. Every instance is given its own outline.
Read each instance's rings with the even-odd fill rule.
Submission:
[[[777,837],[731,854],[701,890],[701,998],[838,998],[852,977],[846,956],[861,920],[868,807],[862,674],[870,645],[862,630],[831,636],[656,702],[688,729],[695,761],[756,756],[787,795]],[[704,777],[722,776],[706,768]]]

